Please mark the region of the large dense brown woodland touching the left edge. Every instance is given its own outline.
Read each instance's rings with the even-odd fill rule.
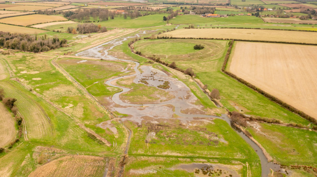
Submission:
[[[44,52],[67,45],[67,40],[57,37],[48,38],[47,35],[37,37],[37,34],[21,34],[0,31],[0,47],[27,52]]]

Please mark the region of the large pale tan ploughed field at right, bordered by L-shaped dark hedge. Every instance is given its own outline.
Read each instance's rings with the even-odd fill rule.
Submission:
[[[230,72],[317,119],[317,46],[237,42]]]

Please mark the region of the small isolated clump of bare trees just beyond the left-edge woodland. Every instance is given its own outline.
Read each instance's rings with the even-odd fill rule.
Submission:
[[[86,33],[95,33],[95,32],[106,32],[106,27],[101,27],[100,24],[95,25],[94,23],[83,23],[78,24],[77,28],[74,27],[68,27],[67,32],[73,33],[73,34],[86,34]]]

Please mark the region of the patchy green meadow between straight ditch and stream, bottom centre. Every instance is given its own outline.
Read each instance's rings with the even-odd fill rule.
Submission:
[[[129,154],[154,155],[169,152],[166,155],[227,159],[244,163],[248,161],[252,174],[259,175],[259,168],[256,166],[259,159],[250,146],[242,141],[241,137],[225,121],[216,119],[213,122],[187,128],[182,124],[179,125],[177,120],[168,123],[162,122],[159,127],[150,122],[144,122],[142,128],[128,122],[126,125],[133,131]],[[155,132],[152,139],[147,138],[150,132]],[[204,134],[209,134],[209,136]],[[212,141],[212,136],[222,140]],[[222,142],[223,140],[224,142]]]

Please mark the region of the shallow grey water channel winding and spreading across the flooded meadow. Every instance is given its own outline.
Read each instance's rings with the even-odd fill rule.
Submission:
[[[146,31],[143,31],[143,33],[139,34],[146,34]],[[260,157],[261,161],[261,167],[262,167],[262,176],[268,176],[270,173],[270,168],[274,171],[281,170],[280,165],[274,164],[272,162],[268,162],[267,158],[264,156],[261,148],[257,146],[252,140],[250,140],[243,132],[241,132],[238,128],[234,127],[230,118],[223,114],[221,117],[218,116],[212,116],[212,115],[200,115],[200,114],[184,114],[181,113],[184,112],[186,109],[200,109],[201,106],[195,105],[194,102],[197,100],[197,98],[192,94],[190,89],[181,81],[172,78],[162,72],[159,69],[154,69],[151,66],[142,65],[139,67],[139,62],[131,61],[131,60],[124,60],[116,58],[115,56],[108,55],[108,50],[113,49],[115,46],[122,44],[123,41],[126,41],[128,38],[134,38],[139,37],[139,34],[136,34],[135,36],[129,36],[124,38],[118,38],[112,41],[109,41],[107,43],[103,43],[101,45],[98,45],[96,47],[84,50],[80,53],[77,53],[76,56],[85,56],[85,57],[92,57],[92,58],[98,58],[98,59],[104,59],[104,60],[115,60],[115,61],[122,61],[122,62],[133,62],[135,63],[135,67],[133,68],[135,73],[131,75],[126,76],[120,76],[113,79],[108,80],[105,84],[121,88],[123,91],[116,93],[111,98],[111,102],[113,102],[113,105],[120,105],[120,106],[113,106],[111,109],[114,111],[118,111],[121,114],[128,114],[132,115],[132,117],[129,118],[121,118],[124,120],[131,120],[138,123],[141,123],[143,120],[143,116],[151,116],[154,119],[155,118],[165,118],[170,119],[173,114],[177,114],[179,119],[182,122],[187,122],[194,120],[194,118],[201,117],[201,118],[216,118],[216,119],[222,119],[226,121],[247,143],[251,145],[251,147],[255,150],[256,154]],[[107,49],[103,50],[103,45],[111,45],[112,46]],[[104,53],[100,53],[100,51],[103,50]],[[142,73],[140,70],[142,70]],[[128,71],[127,71],[128,72]],[[139,81],[142,78],[149,78],[151,76],[151,79],[146,80],[148,82],[148,86],[150,87],[157,87],[160,84],[163,84],[163,81],[170,82],[170,88],[167,89],[171,95],[174,97],[169,99],[165,102],[154,102],[150,104],[132,104],[128,101],[122,101],[120,99],[120,94],[128,92],[130,89],[126,87],[121,87],[116,84],[117,81],[121,79],[126,79],[128,77],[134,76],[134,83],[140,83]],[[173,105],[175,107],[175,111],[172,110],[172,108],[167,107],[165,105]],[[127,149],[126,149],[127,153]]]

